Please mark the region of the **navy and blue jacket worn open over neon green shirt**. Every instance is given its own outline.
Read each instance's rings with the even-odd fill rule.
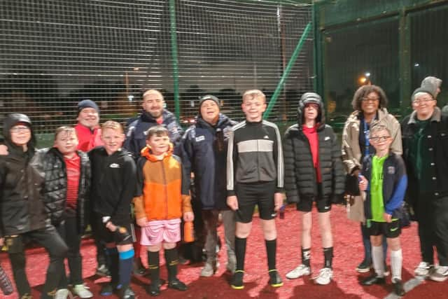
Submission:
[[[363,163],[363,176],[369,181],[366,190],[367,196],[364,204],[365,218],[372,218],[372,204],[370,199],[370,176],[372,174],[372,157],[365,159]],[[383,165],[383,202],[384,211],[391,214],[392,218],[402,218],[402,202],[407,188],[407,174],[405,162],[400,155],[389,153]]]

